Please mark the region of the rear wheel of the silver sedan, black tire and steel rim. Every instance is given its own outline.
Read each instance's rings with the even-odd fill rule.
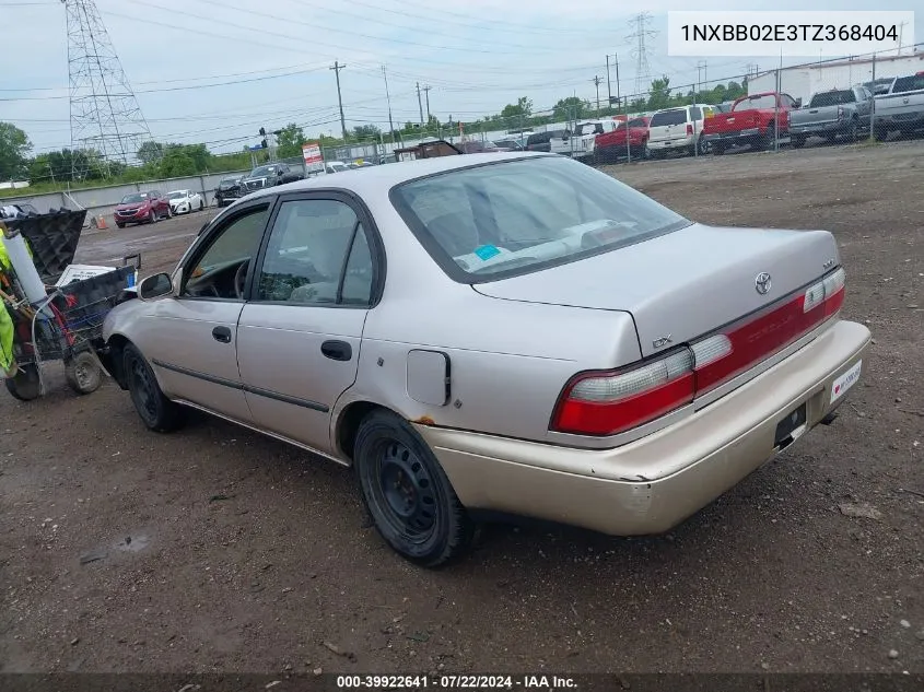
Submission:
[[[475,524],[436,457],[406,421],[386,411],[366,417],[353,461],[365,507],[395,552],[425,567],[466,552]]]

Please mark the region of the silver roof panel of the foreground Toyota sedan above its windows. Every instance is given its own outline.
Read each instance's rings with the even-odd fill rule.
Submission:
[[[342,173],[338,173],[334,181],[328,181],[327,176],[316,176],[296,183],[289,183],[288,185],[265,188],[247,197],[248,199],[258,199],[280,192],[297,192],[300,190],[325,188],[347,189],[356,195],[364,196],[382,191],[383,188],[390,189],[408,180],[445,173],[447,171],[457,171],[486,163],[537,159],[548,155],[533,152],[491,152],[484,154],[459,154],[456,156],[418,159],[391,166],[369,166],[363,169],[349,168]]]

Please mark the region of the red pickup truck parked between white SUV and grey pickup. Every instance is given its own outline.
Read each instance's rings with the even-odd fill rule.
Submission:
[[[780,137],[786,136],[790,110],[798,108],[798,105],[788,94],[776,92],[742,96],[732,104],[729,113],[716,113],[706,118],[702,137],[714,154],[724,154],[729,146],[750,145],[756,151],[769,149],[777,129]]]

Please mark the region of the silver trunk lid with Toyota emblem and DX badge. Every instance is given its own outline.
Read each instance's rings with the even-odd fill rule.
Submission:
[[[473,288],[508,301],[629,313],[642,354],[648,356],[758,313],[838,265],[837,244],[826,231],[692,224],[583,260]],[[773,326],[767,329],[755,338],[771,337]]]

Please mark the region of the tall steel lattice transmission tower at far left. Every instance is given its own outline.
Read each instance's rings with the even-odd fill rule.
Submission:
[[[68,74],[74,179],[92,157],[108,173],[112,162],[134,161],[151,130],[93,0],[61,0],[68,13]],[[92,152],[92,153],[91,153]]]

